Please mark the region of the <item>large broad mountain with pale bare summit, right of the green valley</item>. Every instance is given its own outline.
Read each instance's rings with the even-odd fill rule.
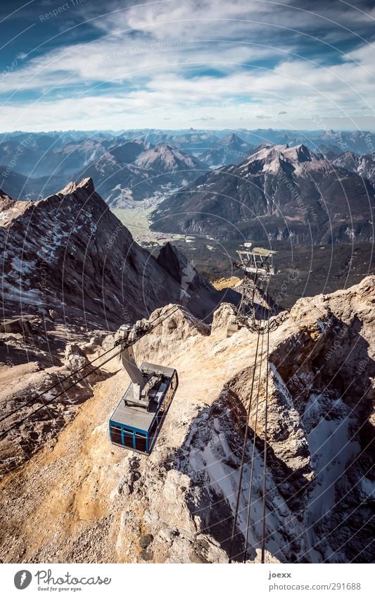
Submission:
[[[310,244],[371,241],[374,188],[305,145],[263,147],[167,197],[153,230]]]

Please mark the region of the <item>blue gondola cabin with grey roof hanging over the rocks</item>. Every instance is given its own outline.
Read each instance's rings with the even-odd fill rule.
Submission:
[[[173,368],[146,362],[140,371],[152,381],[146,401],[134,401],[132,382],[110,418],[109,432],[110,442],[118,447],[148,455],[177,390],[178,376]]]

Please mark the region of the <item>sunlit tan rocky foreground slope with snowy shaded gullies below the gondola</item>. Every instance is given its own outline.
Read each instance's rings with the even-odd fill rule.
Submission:
[[[257,340],[246,329],[227,337],[231,314],[223,304],[208,328],[180,309],[136,345],[138,359],[179,372],[150,457],[110,444],[108,418],[128,380],[117,363],[103,370],[93,397],[76,408],[57,440],[1,482],[1,559],[227,562]],[[374,316],[375,277],[369,277],[348,290],[300,299],[272,320],[268,562],[370,562],[374,556]],[[110,343],[108,337],[103,347]],[[265,371],[263,351],[235,542],[241,559],[255,437],[251,563],[260,547]],[[16,435],[6,442],[11,463]]]

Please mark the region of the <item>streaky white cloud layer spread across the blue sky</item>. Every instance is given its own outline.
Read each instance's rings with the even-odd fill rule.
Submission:
[[[208,119],[212,127],[254,127],[260,125],[257,115],[262,126],[286,127],[281,119],[287,108],[288,127],[330,128],[340,117],[345,127],[355,128],[359,109],[365,106],[371,114],[375,108],[373,47],[362,44],[329,68],[298,58],[292,29],[315,22],[328,27],[333,11],[327,9],[329,19],[322,20],[277,6],[260,0],[168,0],[96,20],[99,39],[31,58],[3,78],[1,92],[8,99],[0,127],[162,127],[165,118],[176,127]],[[351,17],[357,23],[369,18],[345,12],[345,22]],[[278,27],[264,22],[291,27],[288,44],[279,39]],[[259,68],[248,68],[259,61]],[[262,68],[267,61],[274,66]],[[198,74],[200,68],[220,76]],[[21,92],[31,90],[39,99],[22,99]],[[49,99],[51,92],[57,100]]]

